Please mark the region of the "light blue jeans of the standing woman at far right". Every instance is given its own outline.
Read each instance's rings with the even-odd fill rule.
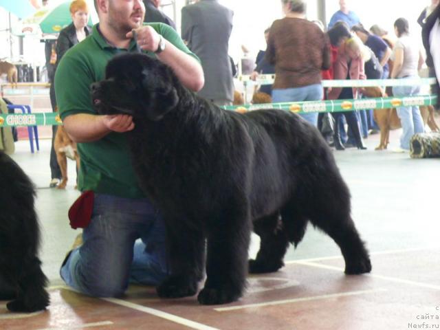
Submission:
[[[408,76],[401,79],[417,78],[417,76]],[[393,87],[394,96],[417,96],[420,93],[420,86],[395,86]],[[423,133],[425,126],[421,118],[420,109],[417,106],[398,107],[397,115],[400,118],[403,133],[400,137],[400,147],[409,150],[410,139],[415,133]]]

